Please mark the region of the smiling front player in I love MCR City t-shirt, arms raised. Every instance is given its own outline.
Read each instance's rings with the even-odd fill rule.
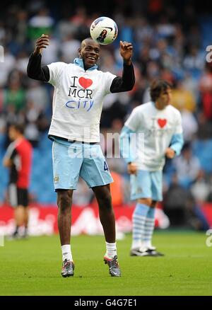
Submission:
[[[121,77],[98,70],[100,45],[91,38],[81,42],[78,58],[73,64],[56,62],[42,67],[41,50],[47,45],[48,36],[42,35],[30,56],[28,76],[54,86],[49,138],[53,140],[54,188],[59,207],[58,226],[63,259],[61,275],[69,277],[74,272],[70,246],[71,199],[81,176],[98,200],[106,241],[105,264],[109,266],[110,275],[119,277],[121,271],[110,194],[112,177],[100,149],[99,127],[103,98],[108,93],[130,91],[134,87],[133,47],[129,42],[120,42],[124,62]]]

